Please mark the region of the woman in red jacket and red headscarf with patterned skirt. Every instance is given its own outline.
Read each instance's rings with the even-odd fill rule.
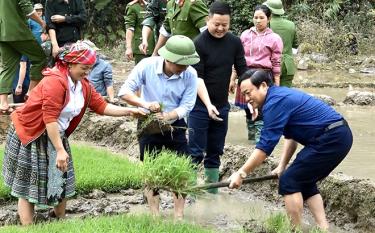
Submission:
[[[65,216],[66,199],[75,194],[73,159],[67,137],[81,121],[86,108],[110,116],[139,116],[135,108],[107,104],[87,75],[96,53],[77,42],[59,54],[56,66],[27,102],[11,114],[3,162],[3,176],[11,195],[18,198],[23,225],[31,224],[34,205],[54,206],[56,217]]]

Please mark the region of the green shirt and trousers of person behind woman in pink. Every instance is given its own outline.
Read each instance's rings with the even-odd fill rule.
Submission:
[[[281,67],[282,69],[286,69],[286,74],[282,72],[281,75],[294,75],[296,66],[293,60],[292,48],[298,47],[296,25],[282,16],[272,15],[270,27],[274,33],[277,33],[281,37],[284,44]]]

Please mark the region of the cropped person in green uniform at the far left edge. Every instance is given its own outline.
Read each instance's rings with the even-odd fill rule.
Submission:
[[[11,111],[8,94],[12,93],[13,78],[22,55],[31,61],[29,90],[42,79],[46,56],[28,27],[27,17],[45,29],[46,23],[37,15],[30,0],[0,1],[0,114]]]

